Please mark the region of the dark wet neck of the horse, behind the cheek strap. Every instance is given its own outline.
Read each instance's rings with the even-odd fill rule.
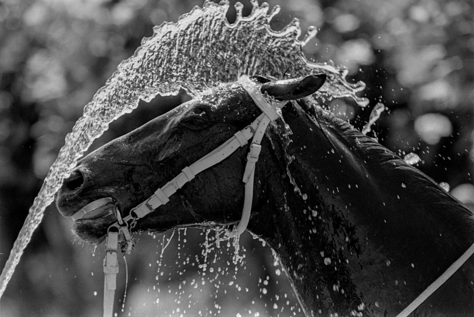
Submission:
[[[284,119],[291,142],[271,133],[273,157],[256,177],[278,173],[267,173],[249,229],[276,250],[308,311],[397,313],[473,243],[470,212],[388,149],[311,105]]]

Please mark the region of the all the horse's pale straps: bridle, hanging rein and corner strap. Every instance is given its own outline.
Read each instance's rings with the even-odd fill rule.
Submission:
[[[122,218],[118,205],[113,198],[105,197],[97,199],[71,217],[77,220],[83,217],[91,217],[98,210],[108,204],[114,204],[114,211],[117,221],[109,226],[106,239],[106,254],[104,258],[104,317],[113,316],[114,296],[117,288],[118,274],[118,238],[120,233],[125,240],[124,249],[130,253],[133,247],[133,239],[130,234],[138,219],[143,218],[150,212],[156,211],[161,205],[169,202],[169,197],[176,193],[184,184],[191,181],[198,173],[223,161],[234,153],[239,147],[245,146],[252,139],[247,154],[247,163],[243,173],[242,181],[245,183],[245,194],[242,215],[238,225],[227,233],[228,238],[237,237],[247,228],[253,200],[253,181],[255,173],[255,163],[261,150],[261,141],[270,122],[278,118],[277,109],[285,105],[285,102],[276,102],[264,97],[260,91],[260,85],[253,82],[248,76],[241,76],[238,79],[241,86],[251,96],[254,103],[262,110],[250,125],[234,134],[232,138],[225,141],[212,152],[203,156],[195,163],[185,167],[180,174],[168,181],[164,186],[158,188],[152,196],[132,208],[129,214]],[[446,282],[468,259],[474,254],[474,244],[454,262],[435,282],[423,291],[410,305],[408,305],[397,317],[407,317],[418,306],[420,306],[431,294],[435,292],[444,282]]]

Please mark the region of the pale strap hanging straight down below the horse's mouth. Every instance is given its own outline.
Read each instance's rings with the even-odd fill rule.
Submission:
[[[104,317],[114,314],[114,296],[118,274],[118,231],[109,231],[104,259]]]

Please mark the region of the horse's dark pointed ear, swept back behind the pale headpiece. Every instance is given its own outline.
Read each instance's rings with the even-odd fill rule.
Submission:
[[[314,94],[326,81],[326,74],[308,75],[264,83],[260,88],[277,100],[297,100]]]

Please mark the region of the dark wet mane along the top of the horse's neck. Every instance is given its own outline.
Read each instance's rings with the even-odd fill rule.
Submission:
[[[372,138],[356,130],[348,122],[336,118],[331,112],[316,106],[314,99],[297,102],[313,123],[308,141],[321,141],[321,129],[333,143],[328,145],[357,170],[360,177],[369,179],[375,194],[374,199],[405,194],[406,201],[392,199],[399,205],[416,208],[420,221],[433,218],[435,225],[452,226],[461,236],[474,239],[474,217],[452,195],[442,189],[432,178],[417,168],[405,163],[397,154]],[[406,188],[402,187],[402,183]],[[392,197],[392,198],[393,198]],[[398,208],[399,209],[399,208]],[[397,211],[398,211],[397,209]],[[409,225],[408,225],[409,226]],[[437,228],[434,228],[435,230]],[[438,231],[441,232],[441,231]]]

